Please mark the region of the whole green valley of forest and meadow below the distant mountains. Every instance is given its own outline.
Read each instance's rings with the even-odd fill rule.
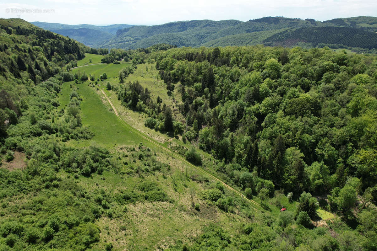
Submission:
[[[376,250],[376,56],[0,25],[0,250]]]

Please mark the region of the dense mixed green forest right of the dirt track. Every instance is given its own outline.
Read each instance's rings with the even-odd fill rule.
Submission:
[[[213,154],[229,181],[241,186],[244,172],[256,172],[298,196],[355,178],[360,195],[377,198],[375,57],[225,47],[170,49],[150,59],[167,90],[181,93],[184,137]]]

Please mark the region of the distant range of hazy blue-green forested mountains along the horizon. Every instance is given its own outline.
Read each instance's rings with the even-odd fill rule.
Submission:
[[[192,20],[144,26],[113,24],[67,25],[33,22],[87,46],[136,49],[153,44],[176,46],[331,46],[377,49],[377,17],[336,18],[327,21],[285,17],[238,20]]]

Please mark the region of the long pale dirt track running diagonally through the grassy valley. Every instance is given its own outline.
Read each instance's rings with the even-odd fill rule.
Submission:
[[[138,131],[137,129],[133,128],[132,126],[130,126],[129,124],[127,124],[126,122],[124,122],[123,119],[121,119],[121,117],[119,116],[118,114],[118,111],[116,111],[115,109],[115,106],[113,105],[113,103],[111,102],[111,100],[109,99],[109,97],[106,95],[106,93],[100,89],[100,91],[102,92],[103,96],[107,99],[107,101],[110,103],[110,106],[113,108],[114,110],[114,113],[116,115],[116,117],[118,117],[118,119],[121,121],[121,123],[127,127],[127,129],[130,129],[132,132],[138,134],[139,136],[143,137],[144,139],[148,140],[150,143],[152,143],[153,145],[155,146],[158,146],[160,147],[161,149],[164,149],[166,152],[168,152],[170,155],[173,155],[175,158],[181,160],[182,162],[188,164],[189,166],[192,166],[194,167],[196,170],[198,170],[199,172],[202,172],[208,176],[210,176],[213,180],[216,180],[216,181],[219,181],[222,183],[223,186],[225,186],[228,190],[231,190],[232,192],[236,193],[237,195],[239,196],[242,196],[243,199],[245,199],[245,201],[249,202],[253,207],[257,208],[257,209],[262,209],[261,205],[259,205],[257,202],[255,202],[254,200],[252,199],[248,199],[246,198],[241,192],[237,191],[236,189],[234,189],[233,187],[229,186],[228,184],[226,184],[224,181],[216,178],[215,176],[211,175],[211,173],[207,172],[206,170],[202,169],[201,167],[198,167],[198,166],[195,166],[193,164],[191,164],[189,161],[187,161],[185,158],[183,158],[181,155],[178,155],[176,154],[175,152],[173,152],[172,150],[168,149],[168,148],[165,148],[164,146],[162,146],[161,144],[159,144],[158,142],[152,140],[151,138],[147,137],[146,135],[144,135],[143,133],[141,133],[140,131]]]

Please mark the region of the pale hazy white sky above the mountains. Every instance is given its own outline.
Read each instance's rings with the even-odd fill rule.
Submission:
[[[377,16],[375,0],[13,0],[0,2],[0,9],[3,18],[97,25],[153,25],[201,19],[247,21],[267,16],[320,21]]]

